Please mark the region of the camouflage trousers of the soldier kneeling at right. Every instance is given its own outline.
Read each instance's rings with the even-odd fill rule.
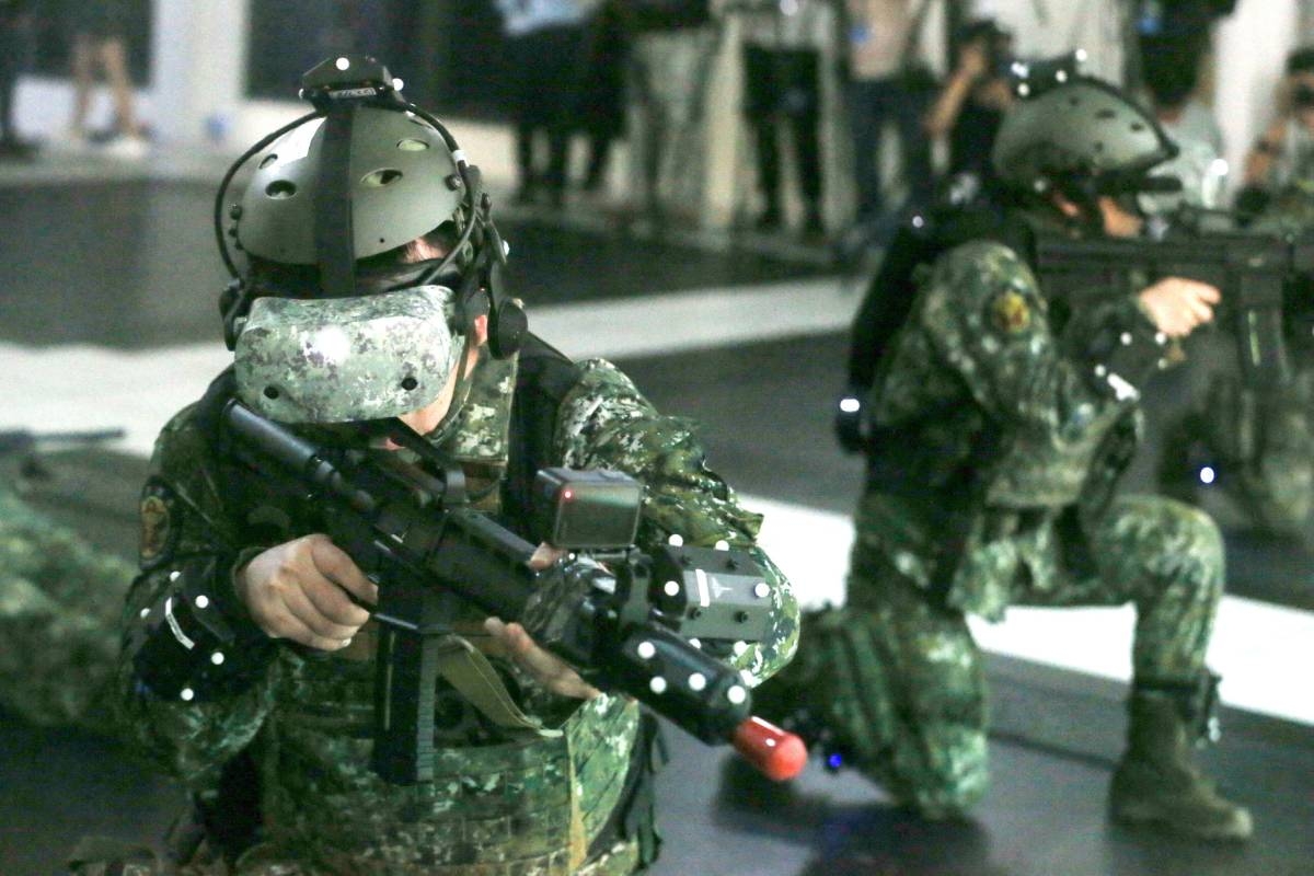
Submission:
[[[1099,574],[1059,566],[1056,580],[1016,583],[1014,604],[1130,602],[1137,679],[1197,679],[1223,584],[1214,523],[1177,502],[1129,496],[1088,535]],[[870,542],[854,546],[848,605],[804,616],[799,657],[779,680],[815,704],[853,764],[900,802],[943,817],[984,795],[988,697],[967,617]]]

